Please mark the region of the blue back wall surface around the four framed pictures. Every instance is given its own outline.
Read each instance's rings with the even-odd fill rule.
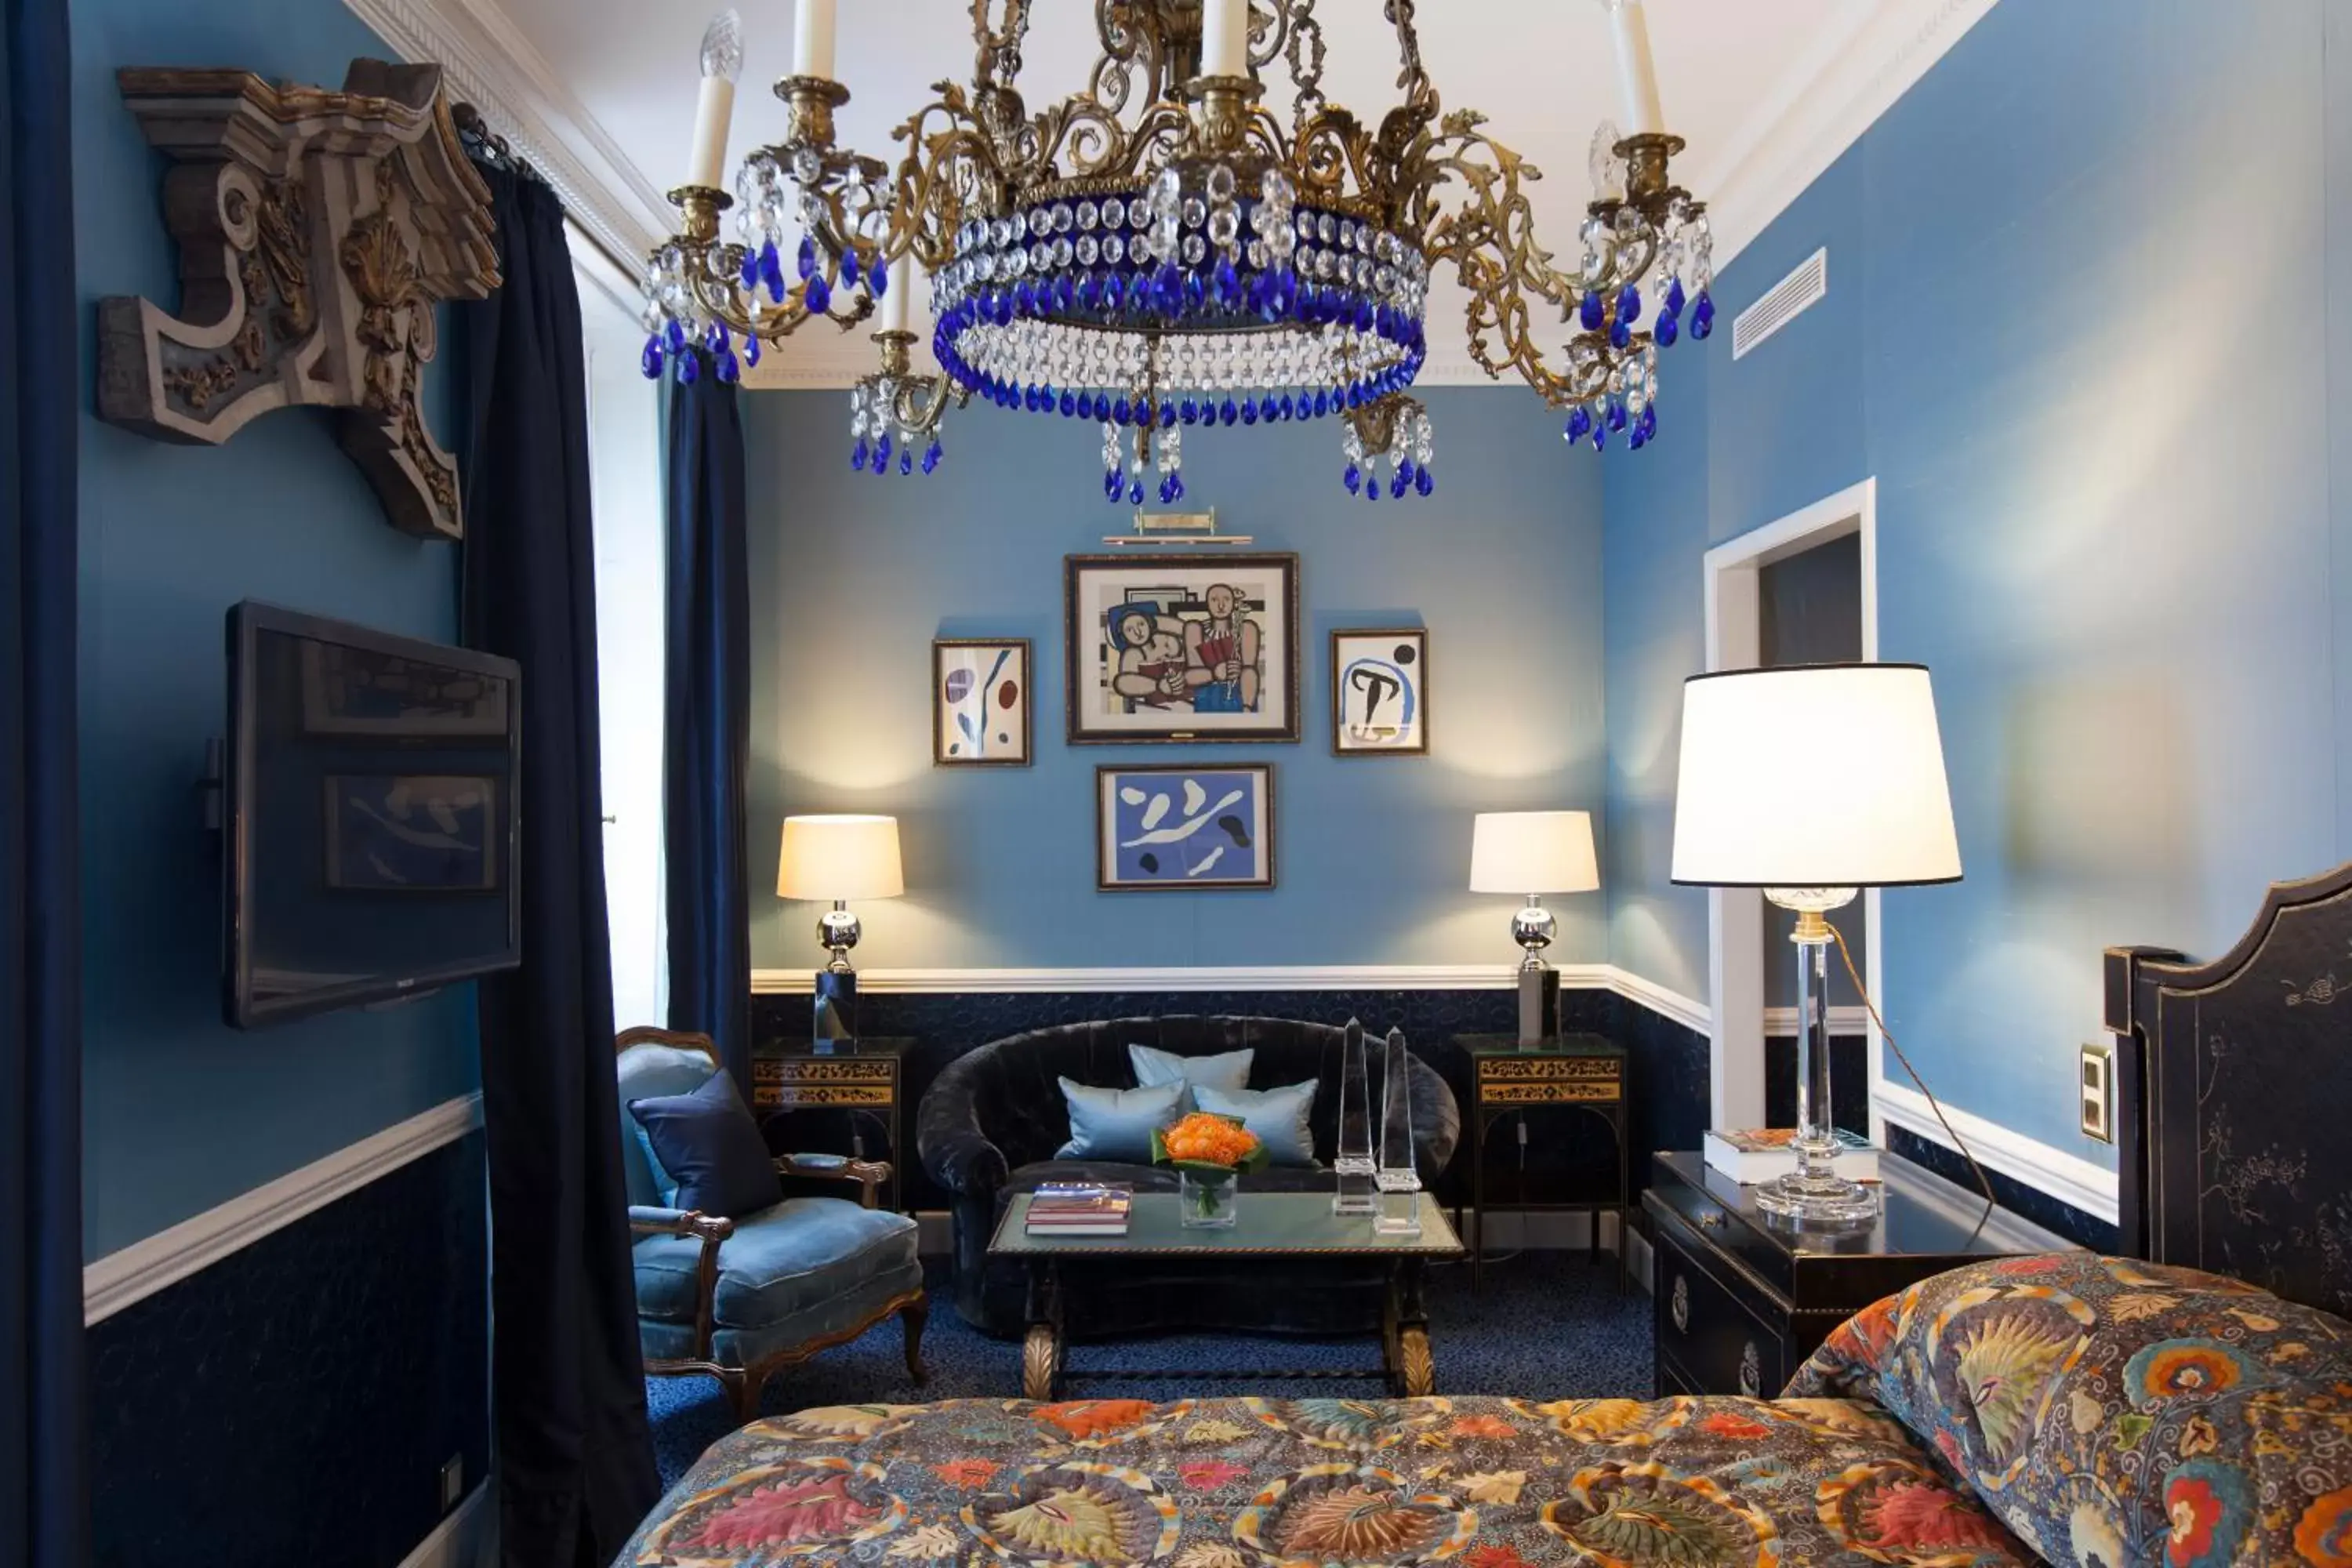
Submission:
[[[1439,390],[1432,501],[1338,484],[1331,423],[1188,444],[1188,505],[1296,550],[1301,745],[1063,743],[1061,559],[1131,512],[1098,491],[1101,430],[974,407],[929,477],[849,470],[842,393],[746,397],[753,564],[753,964],[809,969],[814,905],[774,886],[786,811],[889,811],[908,896],[861,907],[861,964],[1510,961],[1510,900],[1465,891],[1470,816],[1597,809],[1602,480],[1517,390]],[[1331,755],[1329,635],[1430,628],[1425,759]],[[1037,764],[934,769],[931,637],[1028,637]],[[1272,762],[1272,893],[1094,891],[1094,766]],[[1597,896],[1555,900],[1564,961],[1604,957]]]

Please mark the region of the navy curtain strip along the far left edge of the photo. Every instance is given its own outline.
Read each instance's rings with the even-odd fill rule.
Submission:
[[[73,78],[66,0],[7,0],[0,247],[0,1563],[89,1556],[75,809]],[[64,376],[64,381],[61,381]]]

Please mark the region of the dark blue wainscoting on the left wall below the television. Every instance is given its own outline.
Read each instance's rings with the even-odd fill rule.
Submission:
[[[89,1331],[96,1561],[393,1568],[489,1474],[482,1133]]]

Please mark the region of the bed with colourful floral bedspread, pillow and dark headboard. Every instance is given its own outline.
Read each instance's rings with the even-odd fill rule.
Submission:
[[[1780,1399],[800,1410],[715,1443],[616,1561],[2352,1563],[2336,966],[2352,976],[2352,867],[2272,889],[2213,964],[2114,950],[2138,1255],[1929,1279]]]

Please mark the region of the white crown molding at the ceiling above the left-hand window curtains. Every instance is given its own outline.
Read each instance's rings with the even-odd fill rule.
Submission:
[[[548,181],[564,212],[635,273],[668,233],[670,205],[595,122],[494,0],[343,0],[400,59],[435,61],[449,94]]]

